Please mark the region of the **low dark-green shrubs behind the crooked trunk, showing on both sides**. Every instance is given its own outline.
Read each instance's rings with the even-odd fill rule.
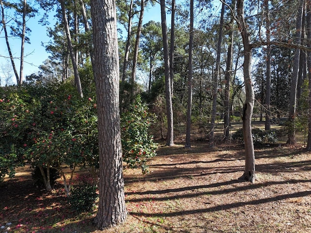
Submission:
[[[266,143],[274,144],[277,142],[276,132],[271,131],[271,130],[264,131],[260,128],[253,128],[252,136],[253,136],[253,144],[255,146],[264,145]],[[243,141],[242,128],[238,129],[235,133],[233,133],[232,139]]]

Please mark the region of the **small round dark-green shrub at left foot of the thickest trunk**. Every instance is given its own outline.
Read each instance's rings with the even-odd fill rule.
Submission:
[[[77,212],[91,211],[98,198],[96,185],[81,183],[73,186],[69,197],[70,206]]]

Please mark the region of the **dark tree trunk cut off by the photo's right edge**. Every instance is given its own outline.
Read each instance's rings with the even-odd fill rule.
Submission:
[[[311,0],[307,0],[307,46],[311,48]],[[309,113],[308,113],[308,143],[307,150],[311,151],[311,52],[308,51],[308,78],[309,78]]]

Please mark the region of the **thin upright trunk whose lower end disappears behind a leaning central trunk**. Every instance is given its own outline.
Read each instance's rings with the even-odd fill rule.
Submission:
[[[172,0],[171,45],[170,45],[170,77],[171,77],[172,96],[173,96],[173,84],[174,84],[174,45],[175,45],[174,42],[175,42],[175,0]]]

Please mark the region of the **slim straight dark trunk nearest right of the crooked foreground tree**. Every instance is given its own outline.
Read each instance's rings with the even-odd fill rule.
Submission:
[[[267,42],[270,42],[270,13],[269,13],[269,0],[264,0],[265,15],[266,15],[266,36]],[[267,45],[267,70],[266,70],[266,117],[264,123],[264,129],[271,129],[271,45]]]

